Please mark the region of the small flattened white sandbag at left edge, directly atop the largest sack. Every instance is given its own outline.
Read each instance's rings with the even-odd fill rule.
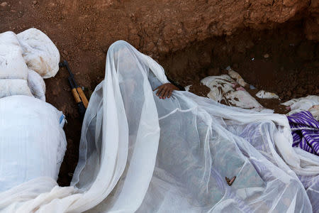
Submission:
[[[18,94],[32,96],[26,80],[0,79],[0,98]]]

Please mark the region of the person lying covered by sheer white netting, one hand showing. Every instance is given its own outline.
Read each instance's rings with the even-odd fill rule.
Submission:
[[[7,209],[318,212],[318,156],[291,143],[286,116],[178,91],[155,60],[121,40],[91,96],[71,186],[26,182]]]

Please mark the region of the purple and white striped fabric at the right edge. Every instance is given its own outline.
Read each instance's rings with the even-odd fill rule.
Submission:
[[[319,155],[319,122],[309,111],[287,116],[293,136],[293,146]]]

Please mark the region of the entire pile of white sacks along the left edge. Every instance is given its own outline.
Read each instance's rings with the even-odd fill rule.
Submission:
[[[67,146],[62,129],[65,116],[45,102],[43,77],[54,76],[59,62],[55,45],[35,28],[18,35],[0,34],[0,200],[3,202],[12,202],[8,200],[8,195],[13,194],[9,189],[23,182],[34,178],[57,180]],[[23,189],[17,193],[23,196]]]

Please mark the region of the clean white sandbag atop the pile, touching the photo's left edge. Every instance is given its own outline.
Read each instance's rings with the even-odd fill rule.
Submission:
[[[22,57],[22,48],[16,34],[0,34],[0,79],[27,80],[28,67]]]

